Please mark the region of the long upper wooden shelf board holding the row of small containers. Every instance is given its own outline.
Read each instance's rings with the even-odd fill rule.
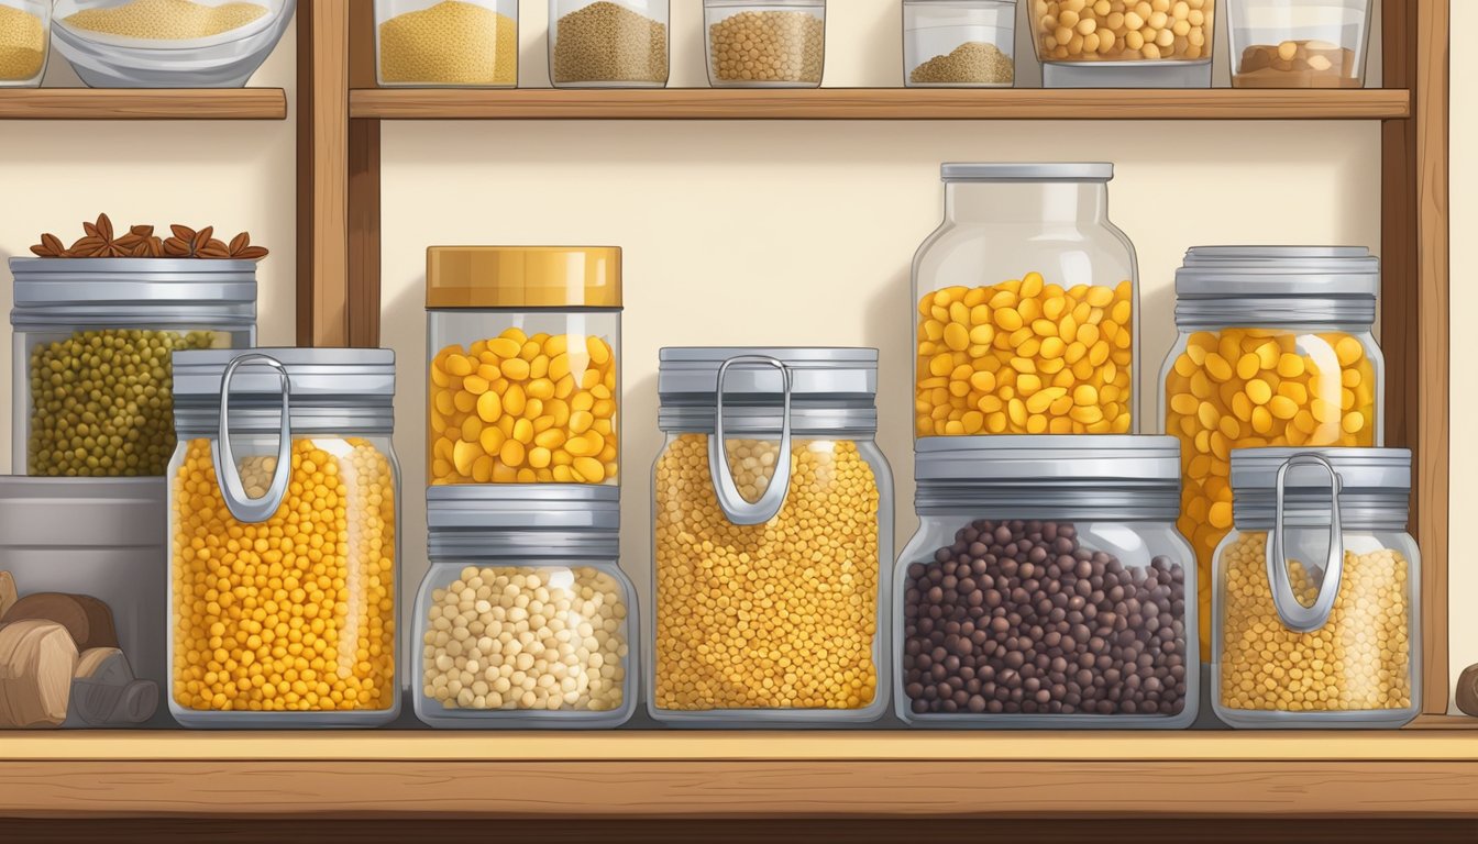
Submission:
[[[358,89],[372,120],[1401,120],[1406,90]]]

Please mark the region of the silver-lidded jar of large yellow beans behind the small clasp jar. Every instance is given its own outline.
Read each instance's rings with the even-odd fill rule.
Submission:
[[[1175,275],[1179,336],[1160,420],[1181,440],[1181,534],[1203,581],[1231,529],[1231,452],[1382,445],[1380,263],[1348,247],[1197,247]],[[1202,658],[1210,596],[1202,596]]]

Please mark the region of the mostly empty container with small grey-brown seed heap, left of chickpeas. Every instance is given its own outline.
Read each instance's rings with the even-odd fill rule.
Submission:
[[[903,0],[903,84],[1015,84],[1015,0]]]

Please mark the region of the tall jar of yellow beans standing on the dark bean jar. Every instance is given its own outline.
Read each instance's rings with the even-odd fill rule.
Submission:
[[[918,438],[1131,433],[1134,244],[1111,164],[944,164],[944,223],[913,257]]]

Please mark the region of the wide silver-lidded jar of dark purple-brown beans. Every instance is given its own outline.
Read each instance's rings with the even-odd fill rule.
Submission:
[[[918,443],[894,572],[899,718],[918,727],[1182,729],[1196,566],[1171,438]]]

